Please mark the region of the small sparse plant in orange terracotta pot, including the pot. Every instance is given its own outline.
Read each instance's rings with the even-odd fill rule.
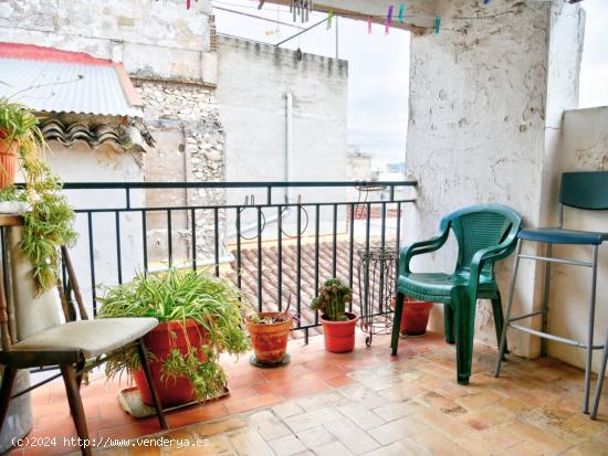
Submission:
[[[291,296],[285,310],[256,312],[247,318],[247,330],[255,353],[250,360],[253,365],[271,368],[289,362],[287,340],[294,319],[290,306]]]

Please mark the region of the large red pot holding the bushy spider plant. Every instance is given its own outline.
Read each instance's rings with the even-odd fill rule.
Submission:
[[[185,329],[188,339],[186,339]],[[174,333],[175,339],[171,339],[169,332]],[[175,381],[169,379],[167,382],[160,380],[163,363],[167,359],[170,350],[177,348],[186,356],[188,353],[188,340],[192,347],[201,347],[209,342],[209,337],[207,330],[195,320],[186,320],[185,326],[181,321],[161,322],[144,337],[146,348],[150,353],[149,361],[153,382],[164,407],[195,401],[192,385],[188,379],[177,378]],[[205,361],[205,356],[202,356],[200,350],[198,350],[198,358]],[[151,405],[153,399],[144,371],[139,369],[133,372],[133,379],[141,394],[141,401]]]

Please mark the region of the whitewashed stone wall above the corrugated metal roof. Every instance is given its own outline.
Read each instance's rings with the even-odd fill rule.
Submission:
[[[2,41],[124,62],[132,75],[201,81],[213,59],[209,0],[3,0]]]

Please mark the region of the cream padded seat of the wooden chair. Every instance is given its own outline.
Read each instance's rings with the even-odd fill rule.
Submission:
[[[139,339],[157,325],[156,318],[71,321],[23,339],[11,351],[81,352],[85,358],[94,358]]]

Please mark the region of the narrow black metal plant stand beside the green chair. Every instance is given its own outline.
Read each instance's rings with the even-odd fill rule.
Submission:
[[[360,326],[367,332],[367,347],[374,335],[389,335],[392,328],[390,301],[395,295],[395,279],[399,255],[395,248],[359,248]]]

